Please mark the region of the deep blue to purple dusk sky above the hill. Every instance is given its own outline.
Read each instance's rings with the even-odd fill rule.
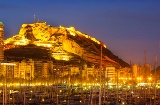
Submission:
[[[147,63],[156,55],[160,62],[160,0],[1,0],[5,39],[34,15],[52,26],[74,26],[127,63],[143,65],[145,51]]]

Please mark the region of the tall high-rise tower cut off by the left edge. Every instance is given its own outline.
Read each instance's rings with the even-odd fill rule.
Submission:
[[[3,39],[4,39],[4,30],[3,23],[0,22],[0,61],[4,60],[4,51],[3,51]]]

